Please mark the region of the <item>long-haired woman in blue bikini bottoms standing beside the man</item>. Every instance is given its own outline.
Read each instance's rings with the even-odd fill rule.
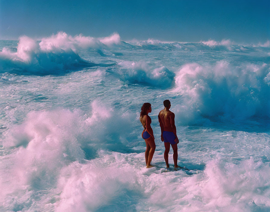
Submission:
[[[154,138],[153,130],[150,126],[152,121],[148,115],[148,113],[151,113],[151,112],[152,112],[151,104],[144,103],[143,107],[141,108],[140,121],[144,128],[142,137],[146,143],[146,151],[145,151],[146,168],[153,167],[151,165],[151,161],[155,152],[155,138]]]

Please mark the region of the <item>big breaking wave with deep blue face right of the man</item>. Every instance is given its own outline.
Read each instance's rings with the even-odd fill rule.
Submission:
[[[176,92],[184,99],[177,107],[179,120],[270,117],[269,65],[232,67],[224,61],[213,66],[185,64],[175,78]],[[263,111],[263,112],[262,112]]]

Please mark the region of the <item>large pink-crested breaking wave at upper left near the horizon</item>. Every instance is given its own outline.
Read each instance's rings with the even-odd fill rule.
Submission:
[[[66,73],[70,70],[80,70],[84,67],[112,64],[97,64],[81,58],[77,51],[87,48],[101,48],[120,42],[120,36],[95,39],[92,37],[68,36],[59,32],[40,42],[27,36],[20,37],[17,52],[3,48],[0,52],[0,71],[2,73],[48,75]]]

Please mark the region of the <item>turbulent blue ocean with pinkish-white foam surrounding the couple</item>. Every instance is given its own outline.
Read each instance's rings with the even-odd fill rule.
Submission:
[[[1,40],[0,211],[269,211],[269,97],[269,42]],[[165,99],[190,170],[165,169]]]

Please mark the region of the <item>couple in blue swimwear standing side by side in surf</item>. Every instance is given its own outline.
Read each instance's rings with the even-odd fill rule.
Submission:
[[[169,151],[170,145],[174,151],[174,167],[175,168],[183,168],[177,165],[178,152],[177,152],[177,144],[179,140],[176,135],[176,127],[174,124],[174,113],[170,111],[171,102],[167,99],[163,101],[164,109],[159,112],[159,126],[161,128],[161,141],[164,142],[165,151],[164,151],[164,159],[166,163],[166,167],[169,168]],[[144,103],[141,108],[140,113],[140,121],[143,125],[143,133],[142,137],[146,143],[146,151],[145,151],[145,162],[146,168],[153,167],[151,165],[152,157],[155,152],[155,137],[153,130],[150,126],[152,120],[149,117],[149,113],[152,112],[152,107],[150,103]]]

